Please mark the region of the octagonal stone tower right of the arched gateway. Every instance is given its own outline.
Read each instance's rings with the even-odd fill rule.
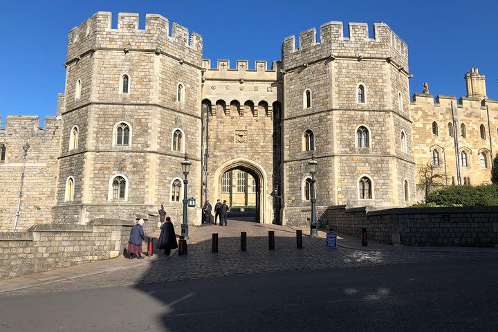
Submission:
[[[309,216],[308,160],[317,158],[317,218],[331,205],[414,203],[408,51],[386,24],[340,22],[287,37],[284,74],[284,220]]]

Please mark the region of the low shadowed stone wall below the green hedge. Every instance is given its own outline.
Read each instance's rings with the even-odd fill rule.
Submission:
[[[403,246],[497,246],[497,207],[398,208],[371,210],[331,206],[322,228]]]

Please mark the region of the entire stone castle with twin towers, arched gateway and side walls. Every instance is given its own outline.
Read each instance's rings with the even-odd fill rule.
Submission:
[[[458,101],[434,102],[428,89],[410,101],[407,44],[386,24],[371,38],[367,24],[349,24],[344,37],[342,23],[329,22],[320,40],[315,28],[299,34],[298,48],[287,37],[282,59],[250,68],[203,59],[201,35],[175,23],[170,33],[160,15],[146,15],[145,30],[138,19],[120,13],[113,29],[111,13],[97,12],[73,28],[56,116],[44,129],[37,117],[6,119],[0,230],[12,230],[19,210],[18,230],[129,220],[160,204],[181,221],[185,153],[197,224],[206,198],[234,191],[246,196],[230,203],[254,204],[261,223],[307,223],[311,156],[319,219],[332,205],[421,201],[427,164],[444,184],[490,181],[498,101],[487,98],[485,77],[465,74],[468,95]]]

